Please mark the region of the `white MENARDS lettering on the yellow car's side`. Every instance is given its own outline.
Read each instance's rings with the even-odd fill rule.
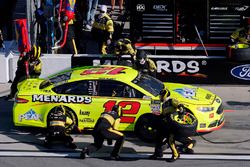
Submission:
[[[50,103],[84,103],[90,104],[92,98],[89,96],[66,96],[66,95],[32,95],[32,102],[50,102]]]

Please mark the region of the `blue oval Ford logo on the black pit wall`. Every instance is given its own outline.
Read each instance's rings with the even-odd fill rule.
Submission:
[[[250,80],[250,64],[234,67],[231,70],[231,74],[239,79]]]

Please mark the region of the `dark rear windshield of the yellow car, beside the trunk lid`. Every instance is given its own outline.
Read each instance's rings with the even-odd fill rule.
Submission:
[[[70,79],[71,74],[72,74],[72,71],[68,71],[65,73],[60,73],[60,74],[48,77],[45,81],[41,83],[40,89],[46,88],[52,84],[57,84],[63,81],[67,81]]]

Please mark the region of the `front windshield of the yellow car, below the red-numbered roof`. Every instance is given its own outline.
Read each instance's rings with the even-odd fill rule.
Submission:
[[[164,89],[164,84],[160,80],[151,77],[147,74],[139,73],[138,76],[132,82],[147,90],[154,96],[159,95],[160,91]]]

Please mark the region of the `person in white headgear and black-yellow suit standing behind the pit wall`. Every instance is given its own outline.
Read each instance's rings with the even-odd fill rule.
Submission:
[[[91,30],[92,36],[98,42],[98,49],[101,54],[107,54],[107,46],[111,44],[114,32],[113,20],[107,14],[107,6],[101,5],[100,14],[95,16]]]

